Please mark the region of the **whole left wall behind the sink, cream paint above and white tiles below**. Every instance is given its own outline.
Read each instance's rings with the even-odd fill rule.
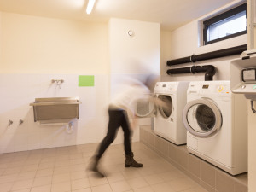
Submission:
[[[0,48],[0,153],[102,140],[108,123],[108,23],[1,13]],[[95,85],[79,87],[79,75],[94,75]],[[51,79],[64,79],[61,89]],[[33,120],[29,104],[55,96],[79,96],[82,102],[72,134],[65,126]],[[8,127],[9,120],[14,123]]]

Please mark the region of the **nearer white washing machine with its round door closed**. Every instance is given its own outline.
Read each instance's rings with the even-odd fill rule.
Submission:
[[[247,172],[247,101],[230,81],[190,82],[183,124],[189,153],[236,175]]]

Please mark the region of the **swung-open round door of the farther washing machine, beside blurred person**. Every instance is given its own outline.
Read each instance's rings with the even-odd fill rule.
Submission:
[[[150,97],[152,96],[146,95],[137,99],[135,103],[135,115],[138,118],[154,117],[156,107]]]

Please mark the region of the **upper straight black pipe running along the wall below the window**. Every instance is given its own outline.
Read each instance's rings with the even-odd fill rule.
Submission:
[[[243,45],[228,48],[228,49],[216,50],[216,51],[212,51],[205,54],[191,55],[191,56],[179,58],[176,60],[170,60],[166,62],[166,65],[173,66],[173,65],[183,64],[188,62],[196,62],[196,61],[215,59],[215,58],[224,57],[224,56],[238,55],[245,50],[247,50],[247,44],[243,44]]]

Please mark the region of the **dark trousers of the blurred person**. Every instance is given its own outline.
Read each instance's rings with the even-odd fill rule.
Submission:
[[[117,131],[121,126],[124,131],[124,145],[125,145],[125,154],[131,154],[131,130],[129,127],[129,122],[127,118],[127,113],[125,110],[111,109],[108,108],[109,122],[108,122],[108,132],[106,137],[102,140],[100,144],[98,154],[96,157],[100,159],[102,154],[108,146],[113,143],[113,140],[116,137]]]

